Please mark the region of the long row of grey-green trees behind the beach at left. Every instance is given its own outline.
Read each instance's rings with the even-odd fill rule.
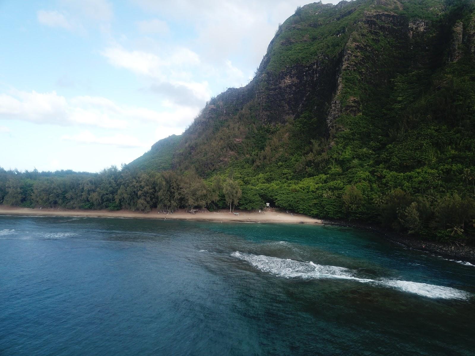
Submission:
[[[172,171],[148,171],[123,166],[97,174],[6,171],[0,168],[0,203],[22,207],[62,207],[67,209],[128,209],[147,213],[157,209],[172,213],[186,208],[211,210],[236,205],[241,196],[239,183],[215,176],[205,181],[196,173],[178,175]],[[230,202],[230,203],[228,203]],[[256,201],[251,208],[263,208]]]

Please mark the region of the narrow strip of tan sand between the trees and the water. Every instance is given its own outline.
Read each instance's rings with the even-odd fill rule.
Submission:
[[[163,214],[157,211],[140,213],[136,211],[119,210],[65,210],[56,208],[22,208],[0,206],[0,215],[34,215],[34,216],[77,216],[77,217],[126,217],[137,219],[173,219],[173,220],[203,220],[222,222],[255,222],[255,223],[294,223],[294,224],[322,224],[322,220],[314,219],[307,215],[277,212],[276,209],[268,209],[266,212],[248,212],[235,210],[236,214],[230,214],[222,209],[214,212],[187,213],[180,209],[172,214]]]

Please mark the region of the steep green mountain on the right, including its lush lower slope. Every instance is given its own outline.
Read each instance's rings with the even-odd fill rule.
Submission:
[[[277,206],[390,215],[380,219],[397,230],[411,230],[403,221],[414,203],[415,225],[424,225],[441,212],[424,216],[422,206],[470,194],[462,176],[475,171],[474,24],[473,1],[298,8],[251,82],[211,99],[183,133],[172,169],[203,178],[231,169]],[[378,213],[382,201],[389,210]]]

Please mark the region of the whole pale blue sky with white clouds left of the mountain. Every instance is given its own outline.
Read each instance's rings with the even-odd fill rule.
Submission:
[[[246,85],[305,3],[0,0],[0,167],[131,162]]]

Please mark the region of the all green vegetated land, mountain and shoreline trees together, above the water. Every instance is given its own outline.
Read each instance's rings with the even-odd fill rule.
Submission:
[[[212,99],[180,137],[121,171],[3,171],[0,202],[141,211],[270,202],[475,242],[474,63],[473,0],[306,5],[279,26],[256,78]]]

